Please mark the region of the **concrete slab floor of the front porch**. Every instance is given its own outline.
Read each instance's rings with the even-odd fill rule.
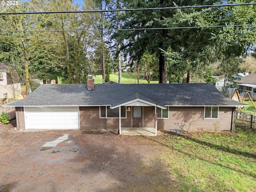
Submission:
[[[156,136],[156,128],[121,128],[121,135],[146,135],[146,136]]]

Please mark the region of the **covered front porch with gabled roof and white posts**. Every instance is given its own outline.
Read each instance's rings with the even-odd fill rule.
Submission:
[[[157,108],[166,109],[166,106],[136,93],[117,101],[110,108],[119,108],[119,134],[156,136]]]

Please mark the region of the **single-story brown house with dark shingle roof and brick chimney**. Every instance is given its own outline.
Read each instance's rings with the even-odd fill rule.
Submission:
[[[233,130],[235,109],[212,84],[42,84],[16,108],[18,129]]]

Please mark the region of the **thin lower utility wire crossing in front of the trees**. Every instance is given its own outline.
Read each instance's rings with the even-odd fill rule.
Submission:
[[[40,30],[40,31],[0,31],[0,33],[14,32],[82,32],[82,31],[125,31],[125,30],[159,30],[159,29],[189,29],[189,28],[213,28],[213,27],[239,27],[239,26],[256,26],[256,24],[244,25],[215,25],[215,26],[189,26],[189,27],[166,27],[166,28],[129,28],[129,29],[93,29],[93,30]]]

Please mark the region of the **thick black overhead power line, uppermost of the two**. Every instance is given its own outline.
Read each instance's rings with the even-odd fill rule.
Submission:
[[[58,14],[58,13],[96,13],[96,12],[126,12],[126,11],[144,11],[144,10],[166,10],[166,9],[186,9],[186,8],[213,8],[226,6],[246,6],[255,5],[256,2],[239,3],[239,4],[220,4],[220,5],[197,5],[197,6],[176,6],[176,7],[159,7],[159,8],[138,8],[138,9],[116,9],[116,10],[80,10],[80,11],[50,11],[50,12],[6,12],[0,15],[17,15],[17,14]]]

